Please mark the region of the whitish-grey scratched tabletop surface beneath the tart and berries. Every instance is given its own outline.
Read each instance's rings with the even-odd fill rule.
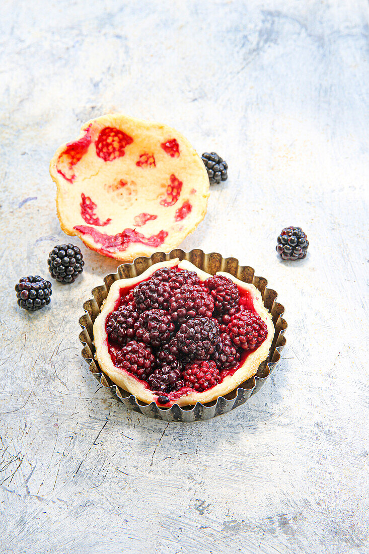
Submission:
[[[368,552],[368,22],[364,0],[2,3],[1,552]],[[254,266],[286,307],[278,370],[206,423],[129,413],[88,374],[81,303],[114,261],[83,247],[48,309],[16,305],[65,242],[49,160],[112,110],[224,156],[182,247]]]

